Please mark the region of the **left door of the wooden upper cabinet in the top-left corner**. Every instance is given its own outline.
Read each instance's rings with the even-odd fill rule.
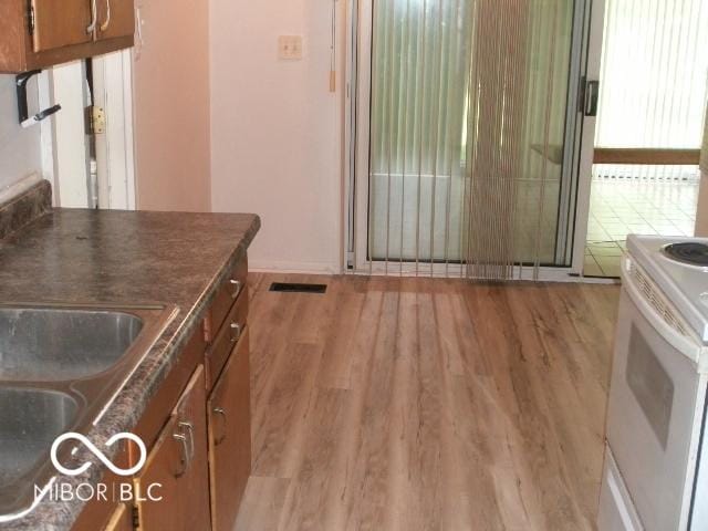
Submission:
[[[35,52],[93,40],[92,0],[32,0]]]

